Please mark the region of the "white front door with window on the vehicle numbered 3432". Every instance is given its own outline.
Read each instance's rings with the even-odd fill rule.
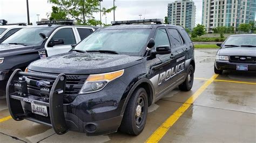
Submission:
[[[60,53],[69,52],[71,49],[71,45],[77,44],[79,39],[75,36],[75,28],[72,26],[65,26],[57,28],[46,41],[45,48],[47,50],[48,56],[56,55]],[[49,42],[53,40],[62,39],[64,44],[49,46]]]

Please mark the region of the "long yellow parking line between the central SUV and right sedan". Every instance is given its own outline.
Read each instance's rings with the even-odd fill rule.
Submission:
[[[167,120],[161,124],[160,127],[154,131],[153,134],[146,140],[146,142],[158,142],[164,137],[170,127],[183,115],[183,113],[190,107],[192,103],[198,98],[199,95],[218,77],[218,74],[214,74],[209,80],[207,80],[187,101],[180,106]]]

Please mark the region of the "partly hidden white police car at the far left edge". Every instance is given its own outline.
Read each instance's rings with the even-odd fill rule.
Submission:
[[[6,20],[0,19],[0,43],[8,38],[10,35],[21,30],[26,26],[25,23],[11,23],[8,24]]]

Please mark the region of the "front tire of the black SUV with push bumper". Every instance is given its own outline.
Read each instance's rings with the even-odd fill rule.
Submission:
[[[139,113],[139,106],[141,109],[140,113]],[[119,127],[119,130],[121,132],[132,134],[132,135],[140,134],[143,131],[144,126],[146,124],[147,110],[148,110],[147,92],[144,88],[137,88],[133,92],[126,106],[124,117]]]

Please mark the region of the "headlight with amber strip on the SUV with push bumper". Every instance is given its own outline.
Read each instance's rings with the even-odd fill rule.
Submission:
[[[122,76],[123,74],[124,74],[124,69],[114,71],[111,73],[90,75],[85,81],[79,94],[89,94],[92,92],[100,91],[106,86],[107,83]]]

